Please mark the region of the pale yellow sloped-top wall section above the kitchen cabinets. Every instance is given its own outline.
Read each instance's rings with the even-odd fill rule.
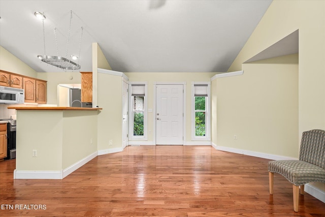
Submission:
[[[0,46],[0,69],[28,77],[37,77],[37,72],[34,69],[31,69],[2,46]]]

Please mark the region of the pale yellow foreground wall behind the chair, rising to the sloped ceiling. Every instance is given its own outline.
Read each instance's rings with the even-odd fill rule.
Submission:
[[[273,1],[229,71],[299,29],[299,137],[325,129],[325,1]]]

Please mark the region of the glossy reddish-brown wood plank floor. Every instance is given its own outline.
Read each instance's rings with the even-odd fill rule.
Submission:
[[[278,174],[270,195],[268,161],[211,146],[127,146],[62,180],[14,180],[15,160],[4,161],[0,216],[325,216],[307,193],[294,212]]]

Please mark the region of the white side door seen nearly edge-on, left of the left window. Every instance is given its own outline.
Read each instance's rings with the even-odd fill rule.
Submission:
[[[123,80],[123,91],[122,91],[122,100],[123,100],[123,114],[122,114],[122,146],[123,148],[125,148],[127,146],[127,141],[128,141],[128,112],[127,112],[127,108],[128,108],[128,84],[126,83],[126,81]]]

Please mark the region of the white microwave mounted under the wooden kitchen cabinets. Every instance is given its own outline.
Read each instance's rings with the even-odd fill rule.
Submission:
[[[24,89],[0,86],[0,104],[22,104],[24,102]]]

